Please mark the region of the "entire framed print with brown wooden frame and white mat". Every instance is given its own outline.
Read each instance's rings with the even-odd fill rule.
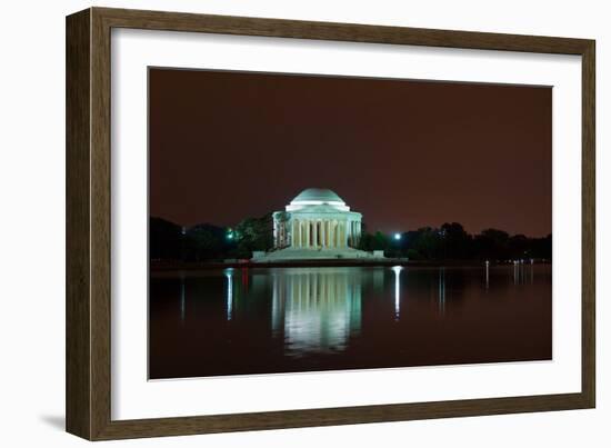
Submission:
[[[594,407],[594,41],[67,19],[67,429]]]

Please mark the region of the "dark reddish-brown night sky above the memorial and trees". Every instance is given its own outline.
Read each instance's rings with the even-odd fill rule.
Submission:
[[[330,188],[370,231],[551,232],[552,90],[150,69],[150,213],[234,226]]]

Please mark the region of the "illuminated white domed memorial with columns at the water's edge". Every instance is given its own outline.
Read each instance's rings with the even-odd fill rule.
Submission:
[[[362,215],[331,190],[308,188],[272,218],[274,249],[254,253],[256,261],[373,257],[357,249]]]

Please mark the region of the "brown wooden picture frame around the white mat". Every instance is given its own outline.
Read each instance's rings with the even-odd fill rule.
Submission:
[[[254,414],[111,419],[110,39],[112,28],[191,31],[582,58],[582,388],[579,394]],[[592,408],[594,41],[535,36],[90,8],[67,18],[67,430],[89,440]]]

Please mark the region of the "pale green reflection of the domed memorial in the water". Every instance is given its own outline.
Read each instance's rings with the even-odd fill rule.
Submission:
[[[287,355],[344,350],[361,328],[361,281],[354,268],[274,270],[272,333]]]

